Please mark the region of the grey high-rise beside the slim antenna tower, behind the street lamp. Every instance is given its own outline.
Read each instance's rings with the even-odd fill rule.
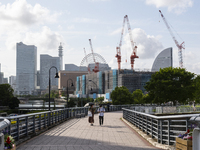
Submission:
[[[46,90],[49,86],[49,70],[51,86],[58,86],[58,79],[54,78],[56,74],[56,69],[60,71],[60,58],[52,57],[50,55],[42,54],[40,55],[40,89]],[[50,69],[53,67],[52,69]]]

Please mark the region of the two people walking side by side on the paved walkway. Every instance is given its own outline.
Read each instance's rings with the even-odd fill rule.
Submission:
[[[91,123],[91,126],[93,126],[94,123],[94,112],[95,108],[93,108],[94,105],[91,105],[88,111],[88,116],[89,116],[89,123]],[[103,116],[105,112],[105,108],[102,107],[102,105],[99,106],[97,112],[99,113],[99,124],[100,126],[103,125]]]

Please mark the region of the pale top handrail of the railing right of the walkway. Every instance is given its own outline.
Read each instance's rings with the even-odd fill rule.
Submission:
[[[151,115],[151,114],[146,114],[146,113],[142,113],[142,112],[138,112],[138,111],[134,111],[134,110],[130,110],[130,109],[126,109],[126,108],[122,108],[122,110],[126,110],[126,111],[130,111],[130,112],[134,112],[137,114],[141,114],[147,117],[151,117],[154,119],[174,119],[174,118],[188,118],[188,117],[194,117],[194,116],[199,116],[200,114],[191,114],[191,115],[168,115],[168,116],[155,116],[155,115]]]

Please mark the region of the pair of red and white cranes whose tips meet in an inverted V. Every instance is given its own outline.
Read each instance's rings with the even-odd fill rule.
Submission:
[[[122,46],[122,38],[123,38],[123,34],[124,34],[125,22],[127,22],[127,27],[128,27],[128,32],[129,32],[129,38],[130,38],[131,46],[132,46],[132,49],[133,49],[133,52],[132,52],[131,57],[130,57],[130,59],[131,59],[131,69],[133,70],[135,58],[139,58],[139,57],[136,55],[137,46],[134,46],[134,42],[133,42],[133,38],[132,38],[131,26],[130,26],[130,23],[129,23],[129,20],[128,20],[128,15],[125,15],[125,16],[124,16],[123,26],[122,26],[122,32],[121,32],[121,38],[120,38],[120,43],[119,43],[119,46],[116,48],[116,49],[117,49],[117,54],[116,54],[115,57],[117,58],[118,69],[120,70],[120,63],[121,63],[121,46]]]

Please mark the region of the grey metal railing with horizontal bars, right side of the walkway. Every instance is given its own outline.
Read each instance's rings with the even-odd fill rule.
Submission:
[[[193,116],[199,114],[155,116],[123,108],[124,119],[157,139],[158,143],[167,145],[173,145],[175,138],[191,127],[189,119]]]

